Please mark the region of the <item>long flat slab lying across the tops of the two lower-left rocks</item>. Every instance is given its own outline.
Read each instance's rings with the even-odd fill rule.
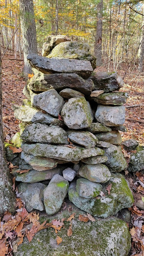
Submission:
[[[56,167],[55,169],[41,172],[30,170],[29,172],[16,174],[15,180],[22,181],[24,183],[35,183],[42,180],[51,180],[55,174],[61,175],[63,169],[66,169],[66,167],[61,165],[60,167]]]

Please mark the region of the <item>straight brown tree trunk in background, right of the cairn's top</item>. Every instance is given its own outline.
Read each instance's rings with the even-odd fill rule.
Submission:
[[[102,27],[103,27],[103,0],[97,5],[97,29],[96,29],[96,41],[95,41],[95,56],[97,58],[96,64],[101,66],[102,64]]]

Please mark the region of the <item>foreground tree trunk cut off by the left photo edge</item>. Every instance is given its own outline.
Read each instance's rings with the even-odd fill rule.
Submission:
[[[6,162],[3,142],[2,88],[1,88],[1,51],[0,51],[0,215],[6,210],[14,212],[15,195],[12,191],[12,179]]]

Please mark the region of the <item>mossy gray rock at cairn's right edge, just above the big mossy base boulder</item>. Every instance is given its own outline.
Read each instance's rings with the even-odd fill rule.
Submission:
[[[104,148],[104,151],[104,155],[108,157],[104,164],[109,167],[111,172],[121,172],[127,168],[127,161],[120,146],[111,144],[108,148]]]

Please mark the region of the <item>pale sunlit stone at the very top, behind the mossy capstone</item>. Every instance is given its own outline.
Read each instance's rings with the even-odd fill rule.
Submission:
[[[71,41],[66,35],[49,35],[46,42],[43,44],[42,56],[47,56],[52,51],[52,49],[63,42]]]

